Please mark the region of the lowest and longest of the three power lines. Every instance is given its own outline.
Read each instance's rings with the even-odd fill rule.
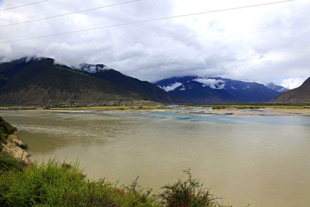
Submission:
[[[288,0],[288,1],[282,1],[282,2],[290,2],[290,1],[294,1],[294,0]],[[79,31],[74,31],[74,32],[65,32],[65,33],[60,33],[60,34],[70,34],[70,33],[75,33],[75,32],[84,32],[84,31],[89,31],[89,30],[94,30],[94,29],[103,29],[103,28],[115,27],[115,26],[121,26],[121,25],[131,25],[131,24],[136,24],[136,23],[141,23],[141,22],[170,19],[170,18],[181,17],[181,16],[191,16],[191,15],[197,15],[197,14],[205,14],[205,13],[211,13],[211,12],[217,12],[217,11],[227,11],[227,10],[232,10],[232,9],[241,9],[241,8],[247,8],[247,7],[257,7],[257,6],[263,6],[263,5],[268,5],[268,4],[276,4],[276,3],[282,3],[282,2],[273,2],[273,3],[267,3],[267,4],[259,4],[259,5],[253,5],[253,6],[246,6],[246,7],[237,7],[237,8],[231,8],[231,9],[216,10],[216,11],[206,11],[206,12],[195,13],[195,14],[186,14],[186,15],[180,15],[180,16],[164,17],[164,18],[153,19],[153,20],[137,21],[137,22],[131,22],[131,23],[124,23],[124,24],[120,24],[120,25],[98,27],[98,28],[93,28],[93,29],[84,29],[84,30],[79,30]],[[33,37],[33,38],[26,38],[26,39],[19,39],[19,40],[11,40],[11,41],[0,42],[0,43],[9,43],[9,42],[16,42],[16,41],[22,41],[22,40],[28,40],[28,39],[36,39],[36,38],[42,38],[42,37],[51,37],[51,36],[56,36],[56,35],[60,35],[60,34],[51,34],[51,35],[46,35],[46,36],[41,36],[41,37]]]

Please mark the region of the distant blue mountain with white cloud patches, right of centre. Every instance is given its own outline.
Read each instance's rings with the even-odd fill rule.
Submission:
[[[155,84],[190,102],[267,102],[281,93],[260,83],[221,77],[172,77]]]

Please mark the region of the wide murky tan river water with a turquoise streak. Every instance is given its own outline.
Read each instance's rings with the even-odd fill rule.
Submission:
[[[96,112],[96,113],[95,113]],[[33,159],[78,157],[86,173],[158,189],[191,168],[234,206],[310,203],[310,121],[303,116],[3,111]],[[87,166],[86,166],[87,165]]]

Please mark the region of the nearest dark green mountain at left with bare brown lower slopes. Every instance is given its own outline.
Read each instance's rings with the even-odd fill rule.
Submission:
[[[61,103],[142,96],[107,80],[54,64],[51,58],[1,64],[0,101],[17,104]]]

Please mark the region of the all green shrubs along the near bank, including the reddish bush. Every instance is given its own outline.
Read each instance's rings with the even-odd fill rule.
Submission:
[[[25,166],[4,152],[0,153],[1,160],[14,165],[1,165],[0,206],[232,207],[219,204],[221,198],[211,194],[200,179],[193,178],[190,169],[184,171],[188,179],[182,177],[164,185],[162,193],[152,195],[153,189],[139,184],[139,176],[128,186],[107,178],[87,178],[78,160],[65,163],[54,157]]]

